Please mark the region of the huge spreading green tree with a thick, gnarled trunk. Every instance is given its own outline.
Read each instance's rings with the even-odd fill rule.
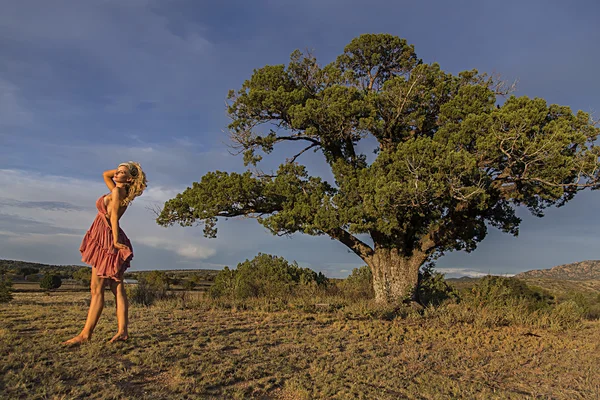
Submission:
[[[328,235],[371,268],[377,300],[409,299],[428,260],[474,250],[489,226],[516,235],[517,207],[542,216],[598,187],[590,116],[506,95],[476,70],[423,63],[392,35],[361,35],[324,67],[295,51],[230,92],[229,132],[246,166],[303,145],[275,173],[207,173],[157,222],[200,222],[214,237],[217,218],[246,216],[277,235]],[[308,150],[333,182],[309,176],[299,163]]]

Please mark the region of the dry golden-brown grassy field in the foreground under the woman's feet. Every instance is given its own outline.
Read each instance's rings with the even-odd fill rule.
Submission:
[[[259,312],[202,299],[131,307],[126,343],[107,305],[79,332],[85,292],[15,293],[0,305],[2,399],[597,399],[600,322],[550,329]]]

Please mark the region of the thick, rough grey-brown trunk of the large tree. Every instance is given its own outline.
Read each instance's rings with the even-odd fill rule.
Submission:
[[[367,260],[373,273],[375,301],[399,303],[416,300],[419,268],[427,256],[420,251],[404,256],[397,249],[379,248]]]

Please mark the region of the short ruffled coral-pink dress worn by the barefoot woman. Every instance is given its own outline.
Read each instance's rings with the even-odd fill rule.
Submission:
[[[119,243],[126,249],[113,247],[113,234],[110,221],[107,218],[104,196],[96,200],[98,215],[92,226],[86,232],[79,247],[81,261],[96,268],[100,278],[110,278],[117,282],[123,279],[123,273],[129,268],[133,258],[133,247],[125,232],[119,227]]]

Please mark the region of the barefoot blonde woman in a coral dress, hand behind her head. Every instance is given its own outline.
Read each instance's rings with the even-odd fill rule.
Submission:
[[[98,215],[85,234],[79,251],[81,260],[92,266],[92,299],[87,320],[81,333],[64,344],[78,344],[92,337],[96,323],[104,307],[104,286],[116,298],[118,332],[111,342],[127,340],[128,304],[123,273],[133,258],[133,248],[125,232],[119,227],[129,203],[146,189],[146,175],[140,164],[129,161],[119,164],[117,169],[105,171],[104,182],[111,193],[96,201]]]

